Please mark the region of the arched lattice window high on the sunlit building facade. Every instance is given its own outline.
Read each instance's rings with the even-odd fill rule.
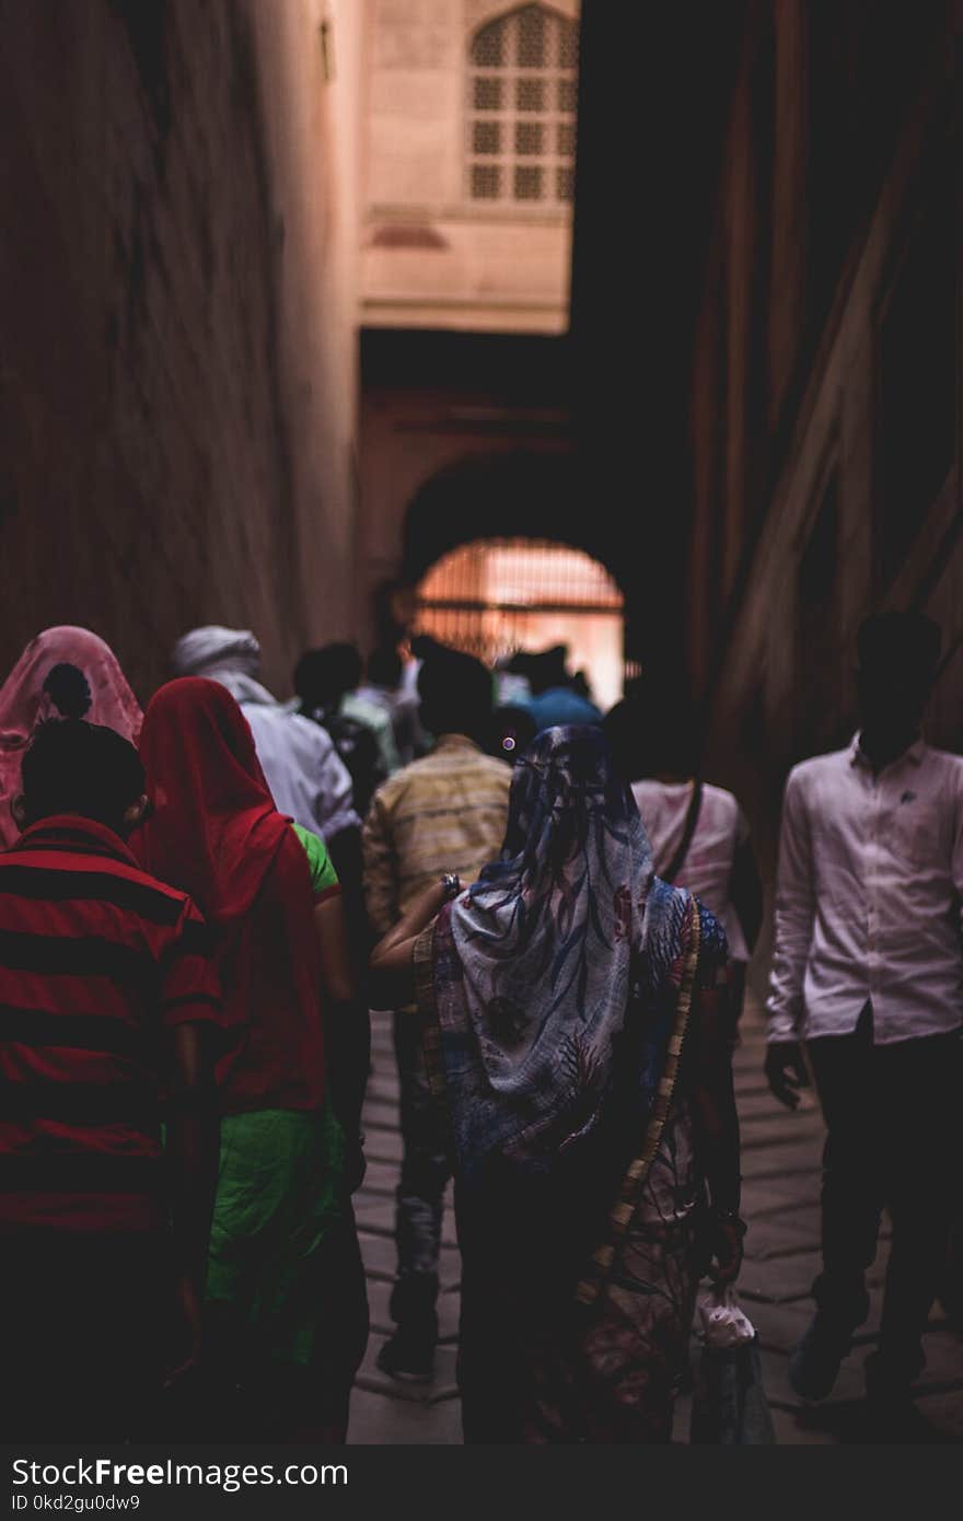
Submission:
[[[566,207],[575,187],[578,26],[523,5],[475,33],[469,78],[469,195]]]

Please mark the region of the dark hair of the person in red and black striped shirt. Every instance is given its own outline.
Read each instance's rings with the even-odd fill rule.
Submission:
[[[41,724],[23,757],[27,821],[79,814],[120,832],[123,815],[145,792],[134,745],[113,729],[82,718]]]

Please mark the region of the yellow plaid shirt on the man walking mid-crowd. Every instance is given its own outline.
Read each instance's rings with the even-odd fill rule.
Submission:
[[[443,735],[377,789],[364,826],[365,905],[383,935],[443,872],[467,887],[502,849],[511,767]]]

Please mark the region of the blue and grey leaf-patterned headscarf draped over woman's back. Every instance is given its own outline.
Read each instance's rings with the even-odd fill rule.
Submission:
[[[604,733],[542,733],[514,768],[501,858],[415,951],[429,1071],[462,1179],[496,1154],[551,1168],[593,1130],[630,1007],[627,1098],[644,1135],[692,913],[688,893],[653,876]]]

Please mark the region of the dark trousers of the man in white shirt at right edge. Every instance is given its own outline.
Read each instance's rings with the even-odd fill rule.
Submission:
[[[808,1042],[826,1119],[820,1310],[844,1329],[869,1314],[866,1270],[887,1209],[893,1243],[885,1278],[881,1383],[910,1384],[945,1259],[958,1186],[960,1034],[873,1043],[872,1005],[853,1034]]]

